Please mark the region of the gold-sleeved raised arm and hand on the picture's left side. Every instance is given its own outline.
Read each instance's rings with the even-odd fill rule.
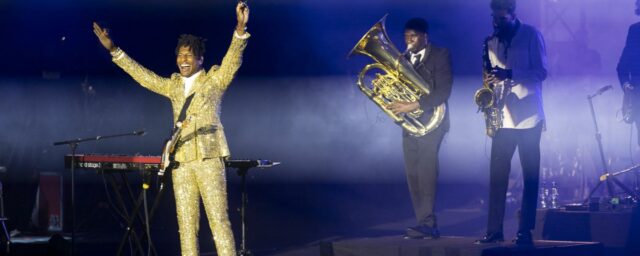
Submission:
[[[131,59],[113,43],[113,40],[109,36],[109,31],[100,27],[98,23],[93,23],[93,33],[98,37],[100,44],[111,53],[113,62],[127,72],[134,80],[155,93],[169,97],[169,79],[156,75]]]

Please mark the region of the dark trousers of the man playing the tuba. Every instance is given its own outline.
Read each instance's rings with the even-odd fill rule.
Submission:
[[[418,225],[437,227],[433,212],[439,172],[438,151],[447,131],[448,125],[443,124],[422,137],[405,133],[402,140],[407,183]]]

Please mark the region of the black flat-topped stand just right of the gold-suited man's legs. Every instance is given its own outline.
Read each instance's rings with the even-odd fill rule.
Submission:
[[[247,174],[249,173],[249,169],[253,167],[257,168],[268,168],[279,165],[280,162],[272,162],[269,160],[228,160],[225,161],[225,166],[229,168],[235,168],[237,170],[238,176],[241,177],[242,183],[240,186],[240,193],[242,195],[242,201],[240,203],[240,223],[242,227],[241,240],[240,240],[240,251],[238,251],[239,256],[250,256],[251,251],[247,249],[247,224],[246,224],[246,208],[249,202],[247,195]]]

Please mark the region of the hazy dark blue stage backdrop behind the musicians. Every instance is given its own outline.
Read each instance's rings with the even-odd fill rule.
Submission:
[[[619,122],[621,91],[615,65],[634,1],[521,0],[517,14],[547,43],[544,85],[547,131],[542,178],[557,182],[564,202],[585,197],[601,166],[585,96],[613,84],[595,100],[609,168],[633,163],[637,148]],[[481,86],[481,42],[491,32],[488,1],[249,1],[251,33],[243,65],[222,104],[233,158],[282,165],[252,170],[249,241],[258,250],[303,246],[321,239],[400,233],[412,225],[400,129],[356,88],[369,60],[346,56],[384,14],[404,49],[402,27],[426,18],[430,38],[451,50],[455,76],[452,129],[441,150],[439,212],[445,235],[480,235],[485,223],[488,149],[473,93]],[[230,42],[235,1],[0,1],[0,166],[12,229],[33,229],[38,175],[65,177],[66,147],[54,141],[145,129],[128,137],[80,145],[80,153],[159,155],[169,136],[169,102],[138,86],[110,61],[91,23],[108,27],[115,43],[162,76],[176,72],[182,33],[208,39],[205,66],[219,64]],[[519,205],[514,159],[511,208]],[[136,183],[135,174],[130,174]],[[228,170],[230,216],[238,228],[239,179]],[[108,205],[103,177],[79,170],[78,229],[84,237],[118,240],[121,220]],[[634,175],[624,181],[635,185]],[[166,195],[154,237],[178,250],[173,195]],[[471,212],[470,214],[465,214]],[[513,215],[508,215],[513,218]],[[203,218],[204,220],[204,218]],[[212,251],[206,221],[201,246]],[[236,232],[236,240],[239,233]],[[105,251],[115,250],[105,243]],[[171,255],[173,253],[167,253]]]

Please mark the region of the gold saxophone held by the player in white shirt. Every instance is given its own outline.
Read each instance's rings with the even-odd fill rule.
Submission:
[[[490,76],[493,66],[489,59],[489,41],[494,36],[489,36],[482,45],[482,88],[476,91],[474,96],[478,105],[478,111],[484,113],[484,120],[489,137],[495,136],[498,129],[502,128],[504,113],[502,108],[505,104],[506,95],[510,92],[508,81],[504,83],[491,83],[487,79]]]

